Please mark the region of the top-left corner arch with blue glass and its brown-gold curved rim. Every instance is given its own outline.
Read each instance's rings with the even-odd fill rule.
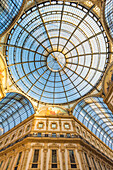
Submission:
[[[14,25],[23,11],[25,2],[26,0],[1,1],[0,37],[2,37]]]

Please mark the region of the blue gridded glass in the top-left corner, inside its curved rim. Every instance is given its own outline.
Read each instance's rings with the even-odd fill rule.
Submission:
[[[23,0],[0,1],[0,34],[2,34],[15,19]]]

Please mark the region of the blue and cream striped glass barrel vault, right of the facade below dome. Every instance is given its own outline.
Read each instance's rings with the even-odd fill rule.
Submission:
[[[113,149],[113,114],[102,98],[89,97],[81,100],[73,115]]]

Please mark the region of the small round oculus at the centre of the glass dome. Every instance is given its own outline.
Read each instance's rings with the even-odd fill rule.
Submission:
[[[47,57],[47,66],[51,71],[60,71],[64,68],[66,59],[61,52],[52,52]]]

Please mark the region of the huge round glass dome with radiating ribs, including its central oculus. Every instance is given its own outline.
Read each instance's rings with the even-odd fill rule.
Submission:
[[[93,7],[53,1],[26,11],[7,40],[12,85],[50,104],[98,91],[109,47]]]

